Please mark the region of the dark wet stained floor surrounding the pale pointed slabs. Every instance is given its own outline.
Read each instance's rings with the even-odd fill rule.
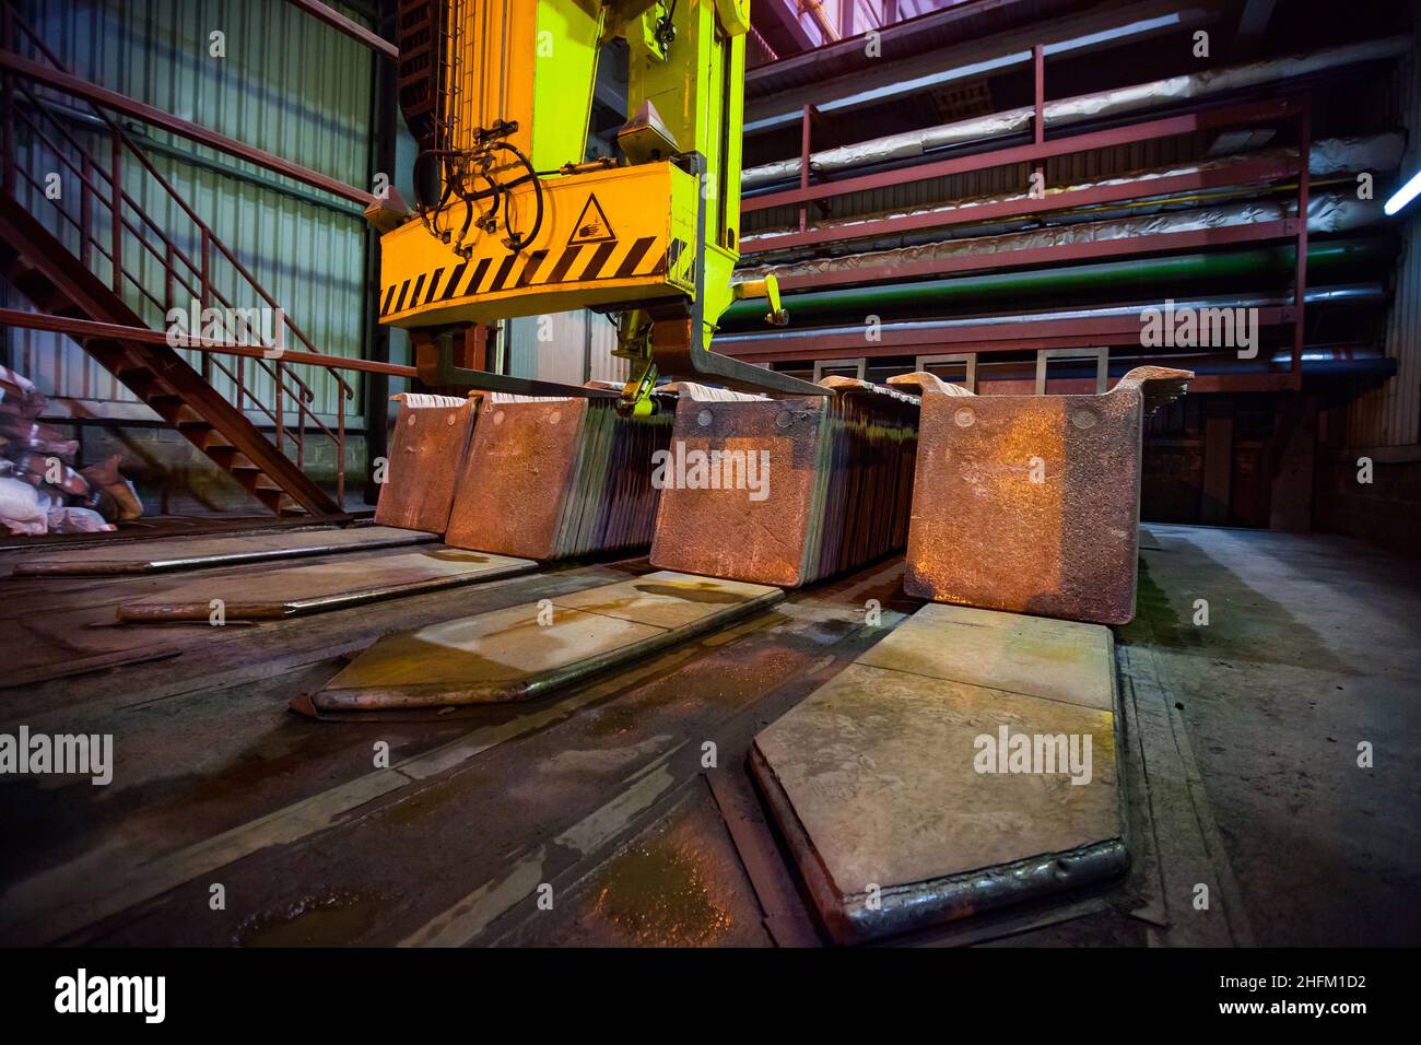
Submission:
[[[1151,530],[1140,616],[1117,644],[1134,748],[1154,769],[1150,783],[1135,766],[1131,827],[1158,845],[1110,887],[898,943],[1421,943],[1415,567],[1334,537]],[[796,901],[790,864],[708,773],[753,806],[755,734],[918,606],[901,562],[526,705],[354,722],[287,711],[382,634],[648,570],[570,566],[226,628],[114,623],[115,604],[172,577],[6,582],[0,624],[24,638],[0,731],[112,734],[115,766],[105,788],[0,781],[14,842],[0,943],[816,941],[767,926]],[[1168,799],[1169,773],[1185,799]],[[1194,921],[1175,852],[1208,853],[1226,924]]]

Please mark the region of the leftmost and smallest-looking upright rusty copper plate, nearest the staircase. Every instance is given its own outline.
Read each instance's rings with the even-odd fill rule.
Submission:
[[[475,400],[396,395],[401,402],[389,442],[389,471],[379,488],[375,522],[443,533],[455,481],[473,431]]]

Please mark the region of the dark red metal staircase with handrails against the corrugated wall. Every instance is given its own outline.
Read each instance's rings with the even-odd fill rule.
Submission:
[[[7,48],[27,41],[37,60],[63,70],[54,53],[6,6]],[[0,274],[57,320],[104,323],[162,333],[171,309],[220,310],[225,338],[266,347],[243,317],[269,310],[284,323],[293,350],[318,354],[236,254],[183,200],[138,144],[104,111],[87,107],[90,125],[75,127],[65,108],[6,74],[3,84],[3,189]],[[67,111],[65,111],[67,109]],[[88,139],[85,144],[84,139]],[[102,142],[107,148],[97,148]],[[58,172],[67,191],[50,199],[44,172]],[[169,227],[139,199],[161,200]],[[180,215],[180,218],[175,218]],[[172,227],[182,225],[185,227]],[[183,250],[179,240],[189,245]],[[193,245],[196,245],[193,247]],[[190,252],[190,253],[189,253]],[[233,303],[240,307],[234,307]],[[145,314],[151,317],[145,318]],[[162,317],[162,318],[159,318]],[[67,331],[68,333],[68,331]],[[198,331],[192,331],[196,334]],[[193,365],[162,338],[121,333],[70,333],[163,421],[277,515],[331,515],[344,495],[345,402],[354,388],[334,370],[310,367],[311,380],[334,382],[334,427],[315,412],[315,394],[279,354],[202,351]],[[199,370],[200,367],[200,370]],[[219,391],[223,385],[227,394]],[[269,424],[274,438],[259,424]],[[308,436],[335,444],[337,496],[303,471]]]

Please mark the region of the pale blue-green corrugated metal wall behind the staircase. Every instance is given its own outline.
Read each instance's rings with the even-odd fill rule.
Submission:
[[[368,24],[360,9],[337,7]],[[27,0],[18,9],[80,77],[342,182],[364,186],[369,179],[371,51],[284,0]],[[225,34],[226,57],[210,54],[213,31]],[[88,112],[82,104],[75,109]],[[107,155],[107,144],[82,121],[70,128],[85,146]],[[146,152],[162,175],[320,351],[362,353],[367,232],[355,205],[175,135],[141,125],[134,131],[152,144]],[[31,155],[43,165],[41,154]],[[196,259],[196,227],[178,205],[134,162],[124,181]],[[37,198],[36,212],[44,206]],[[107,222],[107,212],[95,220]],[[129,250],[139,253],[129,242],[125,262]],[[234,307],[264,304],[230,266],[217,264],[213,280]],[[145,263],[142,282],[151,290],[162,287],[156,259]],[[7,304],[18,307],[10,297]],[[125,297],[161,326],[161,310],[136,287],[128,284]],[[51,395],[134,401],[67,340],[11,331],[7,348],[11,361]],[[317,411],[333,414],[334,381],[310,368],[300,373],[317,394]],[[360,400],[347,409],[358,414]]]

